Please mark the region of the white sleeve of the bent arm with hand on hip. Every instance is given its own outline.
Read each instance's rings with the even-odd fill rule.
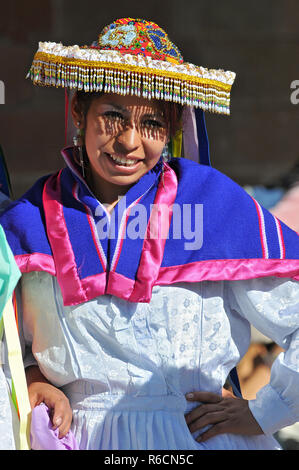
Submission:
[[[284,349],[268,385],[249,400],[265,434],[299,421],[299,283],[274,277],[229,282],[230,306]]]

